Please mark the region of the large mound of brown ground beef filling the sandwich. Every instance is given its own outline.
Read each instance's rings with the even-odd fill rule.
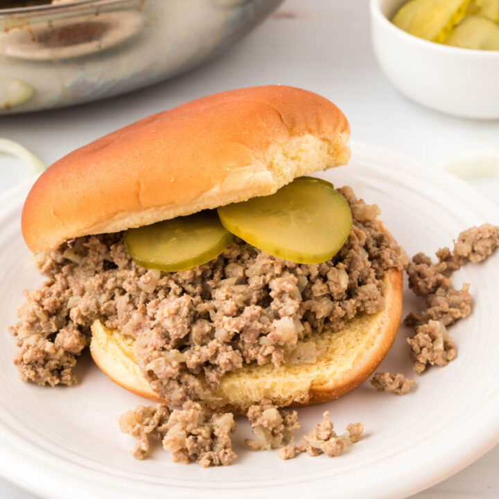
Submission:
[[[349,187],[339,191],[353,227],[340,252],[317,265],[236,239],[209,263],[159,272],[132,261],[121,233],[67,241],[40,262],[49,281],[27,293],[12,328],[21,376],[74,383],[71,369],[96,319],[137,340],[141,371],[172,405],[203,399],[206,385],[217,389],[225,373],[251,362],[313,360],[314,345],[303,347],[310,333],[338,331],[358,313],[383,310],[385,271],[407,263],[375,220],[378,207]]]

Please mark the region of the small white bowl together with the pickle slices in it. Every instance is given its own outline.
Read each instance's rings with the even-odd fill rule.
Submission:
[[[499,0],[371,0],[376,58],[434,110],[499,119]]]

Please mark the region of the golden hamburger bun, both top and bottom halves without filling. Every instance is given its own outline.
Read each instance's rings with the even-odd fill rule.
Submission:
[[[270,195],[295,177],[346,164],[348,141],[342,112],[309,91],[271,85],[193,100],[49,167],[24,205],[23,235],[41,252],[78,236]],[[234,412],[264,398],[308,405],[362,383],[392,346],[401,318],[402,273],[391,269],[384,279],[385,310],[354,317],[336,333],[313,333],[306,341],[319,345],[317,358],[225,374],[207,405]],[[98,321],[91,329],[91,355],[100,369],[131,392],[158,400],[135,361],[133,340]]]

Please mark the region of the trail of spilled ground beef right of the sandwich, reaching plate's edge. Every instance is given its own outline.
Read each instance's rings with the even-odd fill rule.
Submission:
[[[446,327],[471,313],[469,284],[461,290],[452,286],[451,275],[466,262],[478,263],[499,246],[499,227],[484,224],[459,234],[453,250],[437,251],[437,263],[423,253],[414,255],[406,271],[409,287],[426,300],[426,310],[410,313],[405,325],[414,326],[415,335],[408,338],[414,371],[421,374],[428,365],[447,365],[457,356],[457,347]]]

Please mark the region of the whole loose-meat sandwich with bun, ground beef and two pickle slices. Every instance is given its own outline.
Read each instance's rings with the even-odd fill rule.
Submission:
[[[118,385],[243,413],[349,392],[402,311],[403,249],[376,204],[314,176],[347,164],[326,98],[269,85],[150,116],[50,166],[22,231],[48,280],[12,328],[21,378]]]

